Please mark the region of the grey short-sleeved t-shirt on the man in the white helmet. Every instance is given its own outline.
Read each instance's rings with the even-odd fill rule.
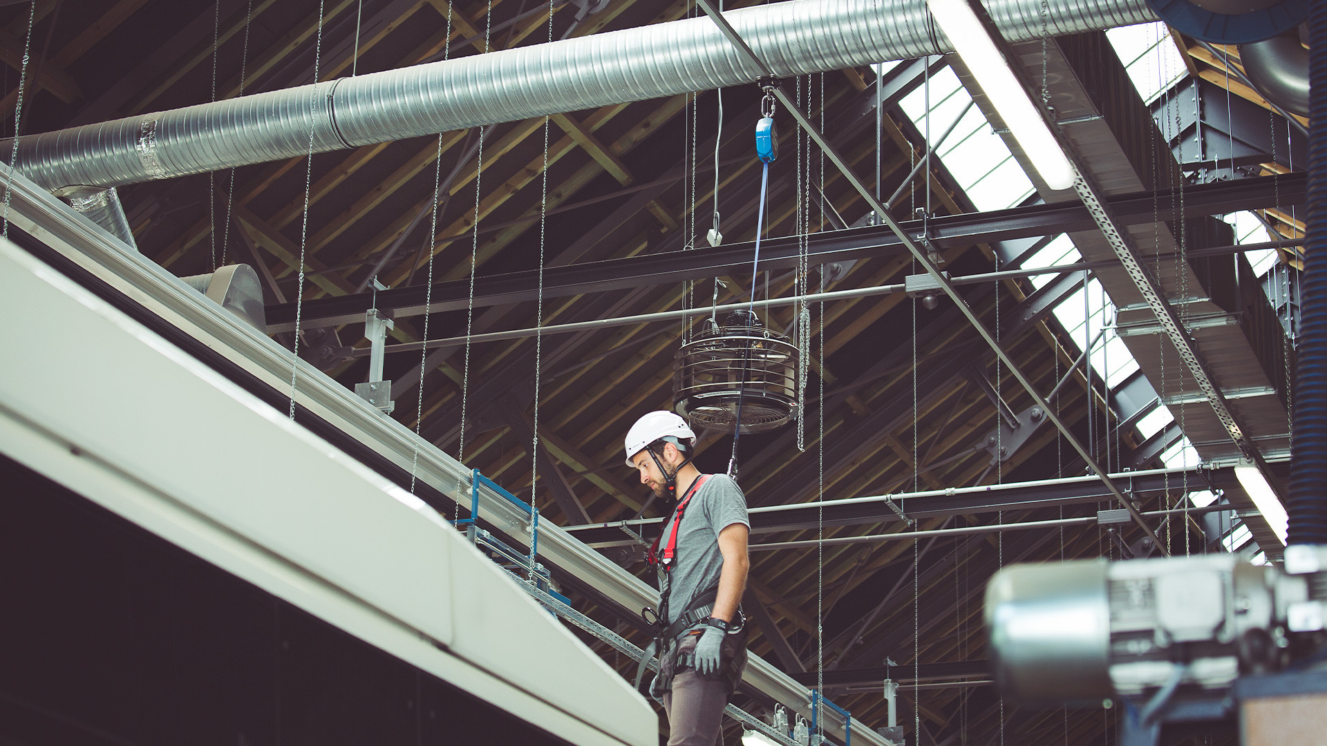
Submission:
[[[673,531],[673,518],[677,508],[669,514],[664,524],[664,538],[660,546],[667,544]],[[723,555],[719,552],[719,531],[734,523],[751,527],[746,512],[746,496],[726,474],[711,474],[695,496],[686,506],[682,523],[678,524],[677,552],[673,556],[673,571],[658,571],[660,603],[669,593],[667,623],[677,621],[690,605],[691,599],[718,585],[723,569]]]

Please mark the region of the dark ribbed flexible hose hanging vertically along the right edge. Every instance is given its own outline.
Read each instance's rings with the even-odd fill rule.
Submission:
[[[1327,3],[1308,4],[1308,235],[1300,297],[1290,544],[1327,544]]]

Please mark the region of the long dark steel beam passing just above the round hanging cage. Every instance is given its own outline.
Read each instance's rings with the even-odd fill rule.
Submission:
[[[1307,177],[1303,173],[1221,182],[1184,190],[1185,216],[1223,215],[1238,210],[1274,204],[1303,204]],[[1109,199],[1115,215],[1124,224],[1151,223],[1157,212],[1169,215],[1178,207],[1178,191],[1136,192]],[[1096,224],[1079,203],[1035,204],[993,212],[945,215],[930,219],[932,243],[940,248],[971,246],[993,240],[1054,235],[1095,230]],[[909,234],[921,231],[920,220],[902,223]],[[794,268],[799,260],[796,236],[762,242],[760,261],[766,269]],[[809,238],[809,263],[827,264],[869,256],[893,256],[904,251],[897,236],[884,226],[827,231]],[[544,297],[561,297],[591,292],[633,289],[660,283],[681,283],[703,277],[742,273],[751,261],[752,244],[738,243],[706,251],[666,252],[628,259],[588,261],[544,269]],[[474,305],[488,307],[535,300],[536,271],[510,272],[475,279]],[[423,312],[423,285],[380,291],[380,309],[389,309],[398,319]],[[453,280],[433,287],[433,312],[466,308],[470,280]],[[324,297],[304,303],[303,325],[325,327],[362,321],[373,304],[373,293]],[[268,331],[291,331],[295,304],[267,308]]]

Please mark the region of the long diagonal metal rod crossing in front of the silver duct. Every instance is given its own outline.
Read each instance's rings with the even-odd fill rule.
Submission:
[[[746,53],[756,65],[760,66],[762,70],[766,72],[766,74],[768,74],[770,77],[775,77],[772,74],[772,70],[759,57],[756,57],[755,52],[752,52],[751,48],[747,46],[744,41],[742,41],[742,37],[738,36],[738,32],[729,24],[729,21],[723,17],[723,15],[719,13],[718,9],[715,9],[715,7],[710,3],[710,0],[697,0],[697,3],[701,5],[702,9],[705,9],[705,13],[710,16],[710,19],[713,19],[715,24],[718,24],[718,27],[723,31],[723,35],[729,38],[729,41],[731,41],[738,49]],[[932,280],[940,285],[940,288],[945,292],[945,295],[949,296],[950,300],[954,301],[954,304],[958,307],[958,311],[967,319],[969,324],[971,324],[973,328],[977,331],[977,333],[981,335],[981,337],[986,341],[987,345],[990,345],[991,350],[1001,360],[1001,362],[1003,362],[1009,368],[1010,374],[1013,374],[1018,380],[1018,382],[1023,386],[1023,389],[1027,390],[1028,396],[1032,397],[1032,401],[1042,408],[1042,411],[1046,413],[1046,418],[1050,419],[1052,425],[1055,425],[1055,427],[1064,435],[1064,439],[1070,443],[1070,446],[1075,451],[1078,451],[1079,457],[1082,457],[1084,462],[1087,462],[1092,473],[1101,479],[1101,483],[1105,485],[1107,490],[1109,490],[1111,494],[1115,495],[1115,499],[1120,502],[1120,506],[1124,507],[1127,511],[1129,511],[1129,516],[1133,519],[1135,523],[1139,524],[1140,528],[1143,528],[1143,532],[1152,539],[1153,546],[1156,546],[1162,555],[1169,556],[1169,551],[1166,550],[1165,546],[1161,544],[1161,540],[1157,538],[1152,527],[1148,526],[1147,520],[1143,518],[1143,514],[1139,512],[1139,508],[1133,507],[1133,502],[1129,499],[1129,496],[1125,495],[1123,490],[1120,490],[1119,485],[1116,485],[1115,481],[1111,479],[1111,477],[1107,474],[1105,469],[1103,469],[1101,465],[1097,463],[1096,458],[1092,455],[1091,451],[1088,451],[1087,446],[1084,446],[1078,439],[1078,437],[1074,435],[1074,431],[1070,430],[1068,425],[1066,425],[1064,421],[1060,419],[1060,417],[1055,413],[1055,410],[1051,409],[1051,406],[1046,402],[1046,400],[1042,398],[1042,394],[1038,393],[1036,388],[1032,385],[1032,381],[1027,378],[1027,376],[1022,372],[1022,369],[1018,368],[1018,365],[1014,364],[1014,358],[1005,352],[999,341],[991,335],[990,329],[987,329],[986,325],[982,324],[982,320],[977,317],[977,313],[967,307],[967,303],[963,300],[961,295],[958,295],[958,291],[954,288],[953,283],[950,283],[949,279],[941,273],[941,271],[936,267],[936,263],[930,260],[926,252],[922,251],[912,240],[912,238],[909,238],[908,234],[904,232],[902,227],[898,226],[898,223],[893,219],[893,216],[889,214],[885,206],[881,204],[878,199],[876,199],[874,192],[872,192],[872,190],[868,188],[867,185],[857,178],[857,174],[852,171],[852,169],[848,166],[848,162],[844,161],[843,155],[839,154],[839,151],[829,143],[829,141],[827,141],[824,135],[820,134],[820,130],[817,130],[815,125],[812,125],[811,121],[807,119],[807,117],[800,110],[798,110],[798,105],[791,98],[788,98],[788,94],[784,93],[778,86],[774,88],[774,94],[775,97],[779,98],[779,102],[783,104],[783,108],[787,109],[788,113],[792,114],[792,117],[798,121],[798,125],[800,125],[802,129],[805,130],[805,133],[811,137],[811,139],[813,139],[816,145],[820,146],[820,150],[829,158],[829,161],[833,162],[835,167],[839,169],[844,179],[847,179],[848,183],[851,183],[852,187],[857,190],[857,194],[861,195],[865,203],[872,210],[876,211],[876,215],[880,216],[880,220],[886,226],[889,226],[889,230],[893,231],[896,236],[898,236],[898,240],[908,248],[908,251],[913,255],[913,258],[917,259],[917,261],[926,268],[926,273],[932,276]]]

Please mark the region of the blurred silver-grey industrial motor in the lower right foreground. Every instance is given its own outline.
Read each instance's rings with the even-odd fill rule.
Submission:
[[[1234,555],[1023,564],[986,588],[995,682],[1022,702],[1221,689],[1324,641],[1327,547],[1285,568]]]

